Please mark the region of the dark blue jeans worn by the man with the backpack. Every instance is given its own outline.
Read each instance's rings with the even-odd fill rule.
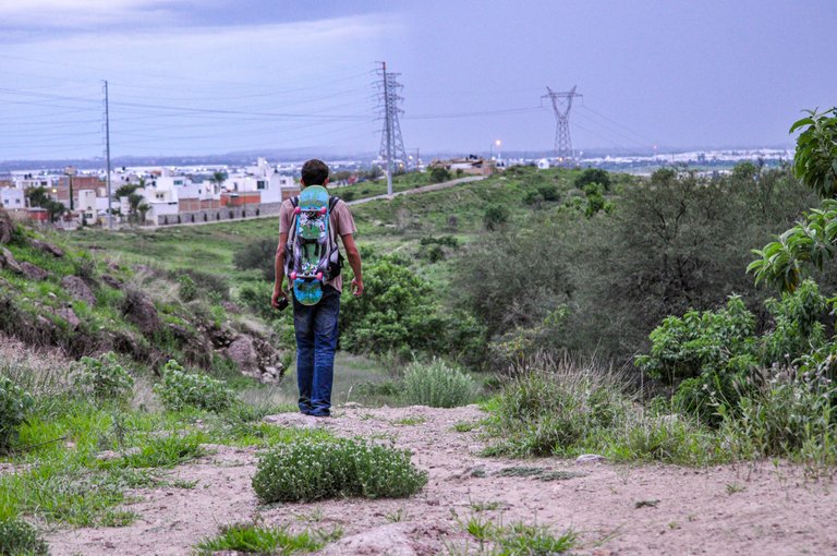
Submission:
[[[316,305],[293,301],[300,411],[308,415],[327,416],[331,411],[339,315],[340,292],[331,286],[323,287]]]

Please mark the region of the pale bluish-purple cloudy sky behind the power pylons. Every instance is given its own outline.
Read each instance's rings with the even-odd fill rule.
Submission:
[[[408,149],[789,145],[837,105],[834,0],[0,0],[0,160],[376,152],[376,62]]]

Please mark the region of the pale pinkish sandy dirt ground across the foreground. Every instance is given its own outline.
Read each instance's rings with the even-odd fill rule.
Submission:
[[[222,524],[259,518],[265,524],[340,528],[324,554],[478,554],[461,523],[477,515],[510,523],[568,529],[580,555],[798,555],[837,554],[837,513],[830,480],[804,481],[802,470],[763,463],[684,469],[670,466],[577,463],[560,459],[481,458],[478,430],[458,433],[457,422],[483,416],[475,407],[341,409],[336,418],[267,418],[277,426],[324,426],[339,435],[391,436],[413,450],[429,483],[410,499],[341,499],[260,507],[251,487],[253,449],[217,452],[175,469],[172,479],[193,488],[131,493],[130,527],[56,531],[52,554],[190,554]],[[415,424],[399,421],[411,419]],[[543,481],[504,476],[509,468],[568,471]],[[468,548],[468,552],[465,551]]]

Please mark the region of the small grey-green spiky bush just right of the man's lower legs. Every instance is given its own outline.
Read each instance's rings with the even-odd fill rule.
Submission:
[[[404,400],[412,404],[456,408],[470,403],[475,390],[473,378],[439,359],[413,363],[404,373]]]

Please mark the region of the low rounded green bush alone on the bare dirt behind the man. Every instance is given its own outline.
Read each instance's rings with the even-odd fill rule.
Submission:
[[[264,504],[341,496],[401,498],[418,492],[427,473],[408,450],[362,438],[338,438],[277,446],[265,454],[253,476]]]

